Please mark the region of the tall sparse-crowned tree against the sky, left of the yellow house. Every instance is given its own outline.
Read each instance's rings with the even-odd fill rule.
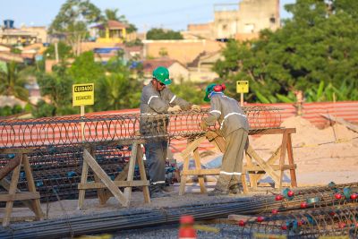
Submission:
[[[52,21],[48,32],[65,35],[72,46],[72,53],[80,55],[80,44],[88,35],[88,26],[101,19],[103,17],[100,10],[91,4],[90,0],[67,0]]]

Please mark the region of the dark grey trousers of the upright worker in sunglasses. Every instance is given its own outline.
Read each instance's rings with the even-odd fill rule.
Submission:
[[[144,145],[147,164],[149,167],[149,190],[158,191],[166,184],[166,153],[167,141],[155,139]]]

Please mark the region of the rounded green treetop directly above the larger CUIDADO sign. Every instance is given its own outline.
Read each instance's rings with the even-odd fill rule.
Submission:
[[[68,74],[74,83],[96,83],[105,75],[101,64],[95,62],[94,53],[91,51],[79,55],[68,69]]]

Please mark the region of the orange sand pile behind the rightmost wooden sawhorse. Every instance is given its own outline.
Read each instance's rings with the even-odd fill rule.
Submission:
[[[282,126],[296,128],[292,142],[299,185],[358,181],[358,133],[342,124],[320,130],[300,116],[287,118]],[[281,141],[282,135],[262,135],[251,139],[251,146],[267,159]]]

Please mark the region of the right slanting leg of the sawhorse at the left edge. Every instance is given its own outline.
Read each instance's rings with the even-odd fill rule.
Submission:
[[[29,192],[38,193],[36,192],[36,186],[32,176],[31,166],[27,154],[23,154],[22,164],[23,164],[23,169],[25,171],[26,180],[28,181]],[[31,204],[32,204],[32,208],[35,210],[36,218],[38,218],[38,220],[42,219],[44,217],[44,214],[42,212],[41,204],[39,202],[39,193],[38,193],[38,198],[31,201]]]

